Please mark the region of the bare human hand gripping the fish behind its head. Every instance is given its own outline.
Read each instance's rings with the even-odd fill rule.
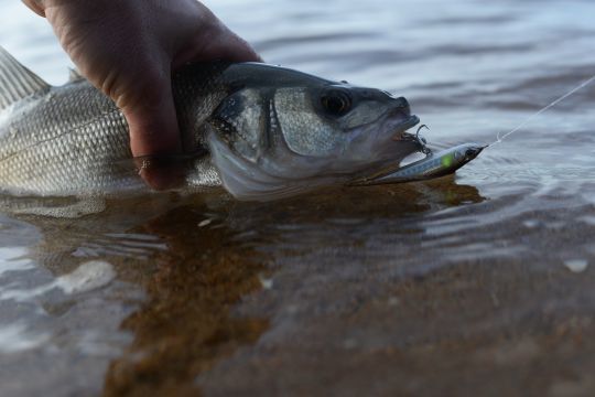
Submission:
[[[182,150],[173,71],[193,61],[261,61],[195,0],[23,2],[47,19],[80,73],[122,110],[134,157]],[[154,189],[176,182],[167,170],[144,170],[141,175]]]

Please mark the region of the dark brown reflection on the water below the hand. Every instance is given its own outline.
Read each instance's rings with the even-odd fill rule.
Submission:
[[[106,395],[191,393],[199,373],[267,330],[266,319],[232,315],[234,304],[262,286],[266,258],[251,246],[258,240],[235,242],[225,218],[207,213],[183,206],[138,230],[170,249],[152,258],[155,271],[142,282],[149,300],[122,323],[134,341],[110,364]]]

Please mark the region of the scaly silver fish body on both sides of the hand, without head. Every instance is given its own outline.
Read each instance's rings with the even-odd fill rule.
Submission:
[[[174,84],[185,147],[204,148],[204,121],[227,95],[214,76],[182,75]],[[86,81],[52,87],[0,110],[0,186],[9,193],[145,190],[131,157],[126,119]],[[193,186],[220,184],[205,160],[196,161],[195,174],[188,175]]]

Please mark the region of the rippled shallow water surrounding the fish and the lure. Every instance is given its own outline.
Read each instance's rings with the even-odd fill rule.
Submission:
[[[50,28],[0,4],[0,44],[63,82]],[[207,4],[268,62],[405,96],[436,148],[595,74],[587,0]],[[1,394],[593,395],[594,100],[429,183],[2,214]]]

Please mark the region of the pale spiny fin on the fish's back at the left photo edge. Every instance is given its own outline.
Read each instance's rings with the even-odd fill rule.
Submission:
[[[0,46],[0,110],[47,88],[47,83]]]

